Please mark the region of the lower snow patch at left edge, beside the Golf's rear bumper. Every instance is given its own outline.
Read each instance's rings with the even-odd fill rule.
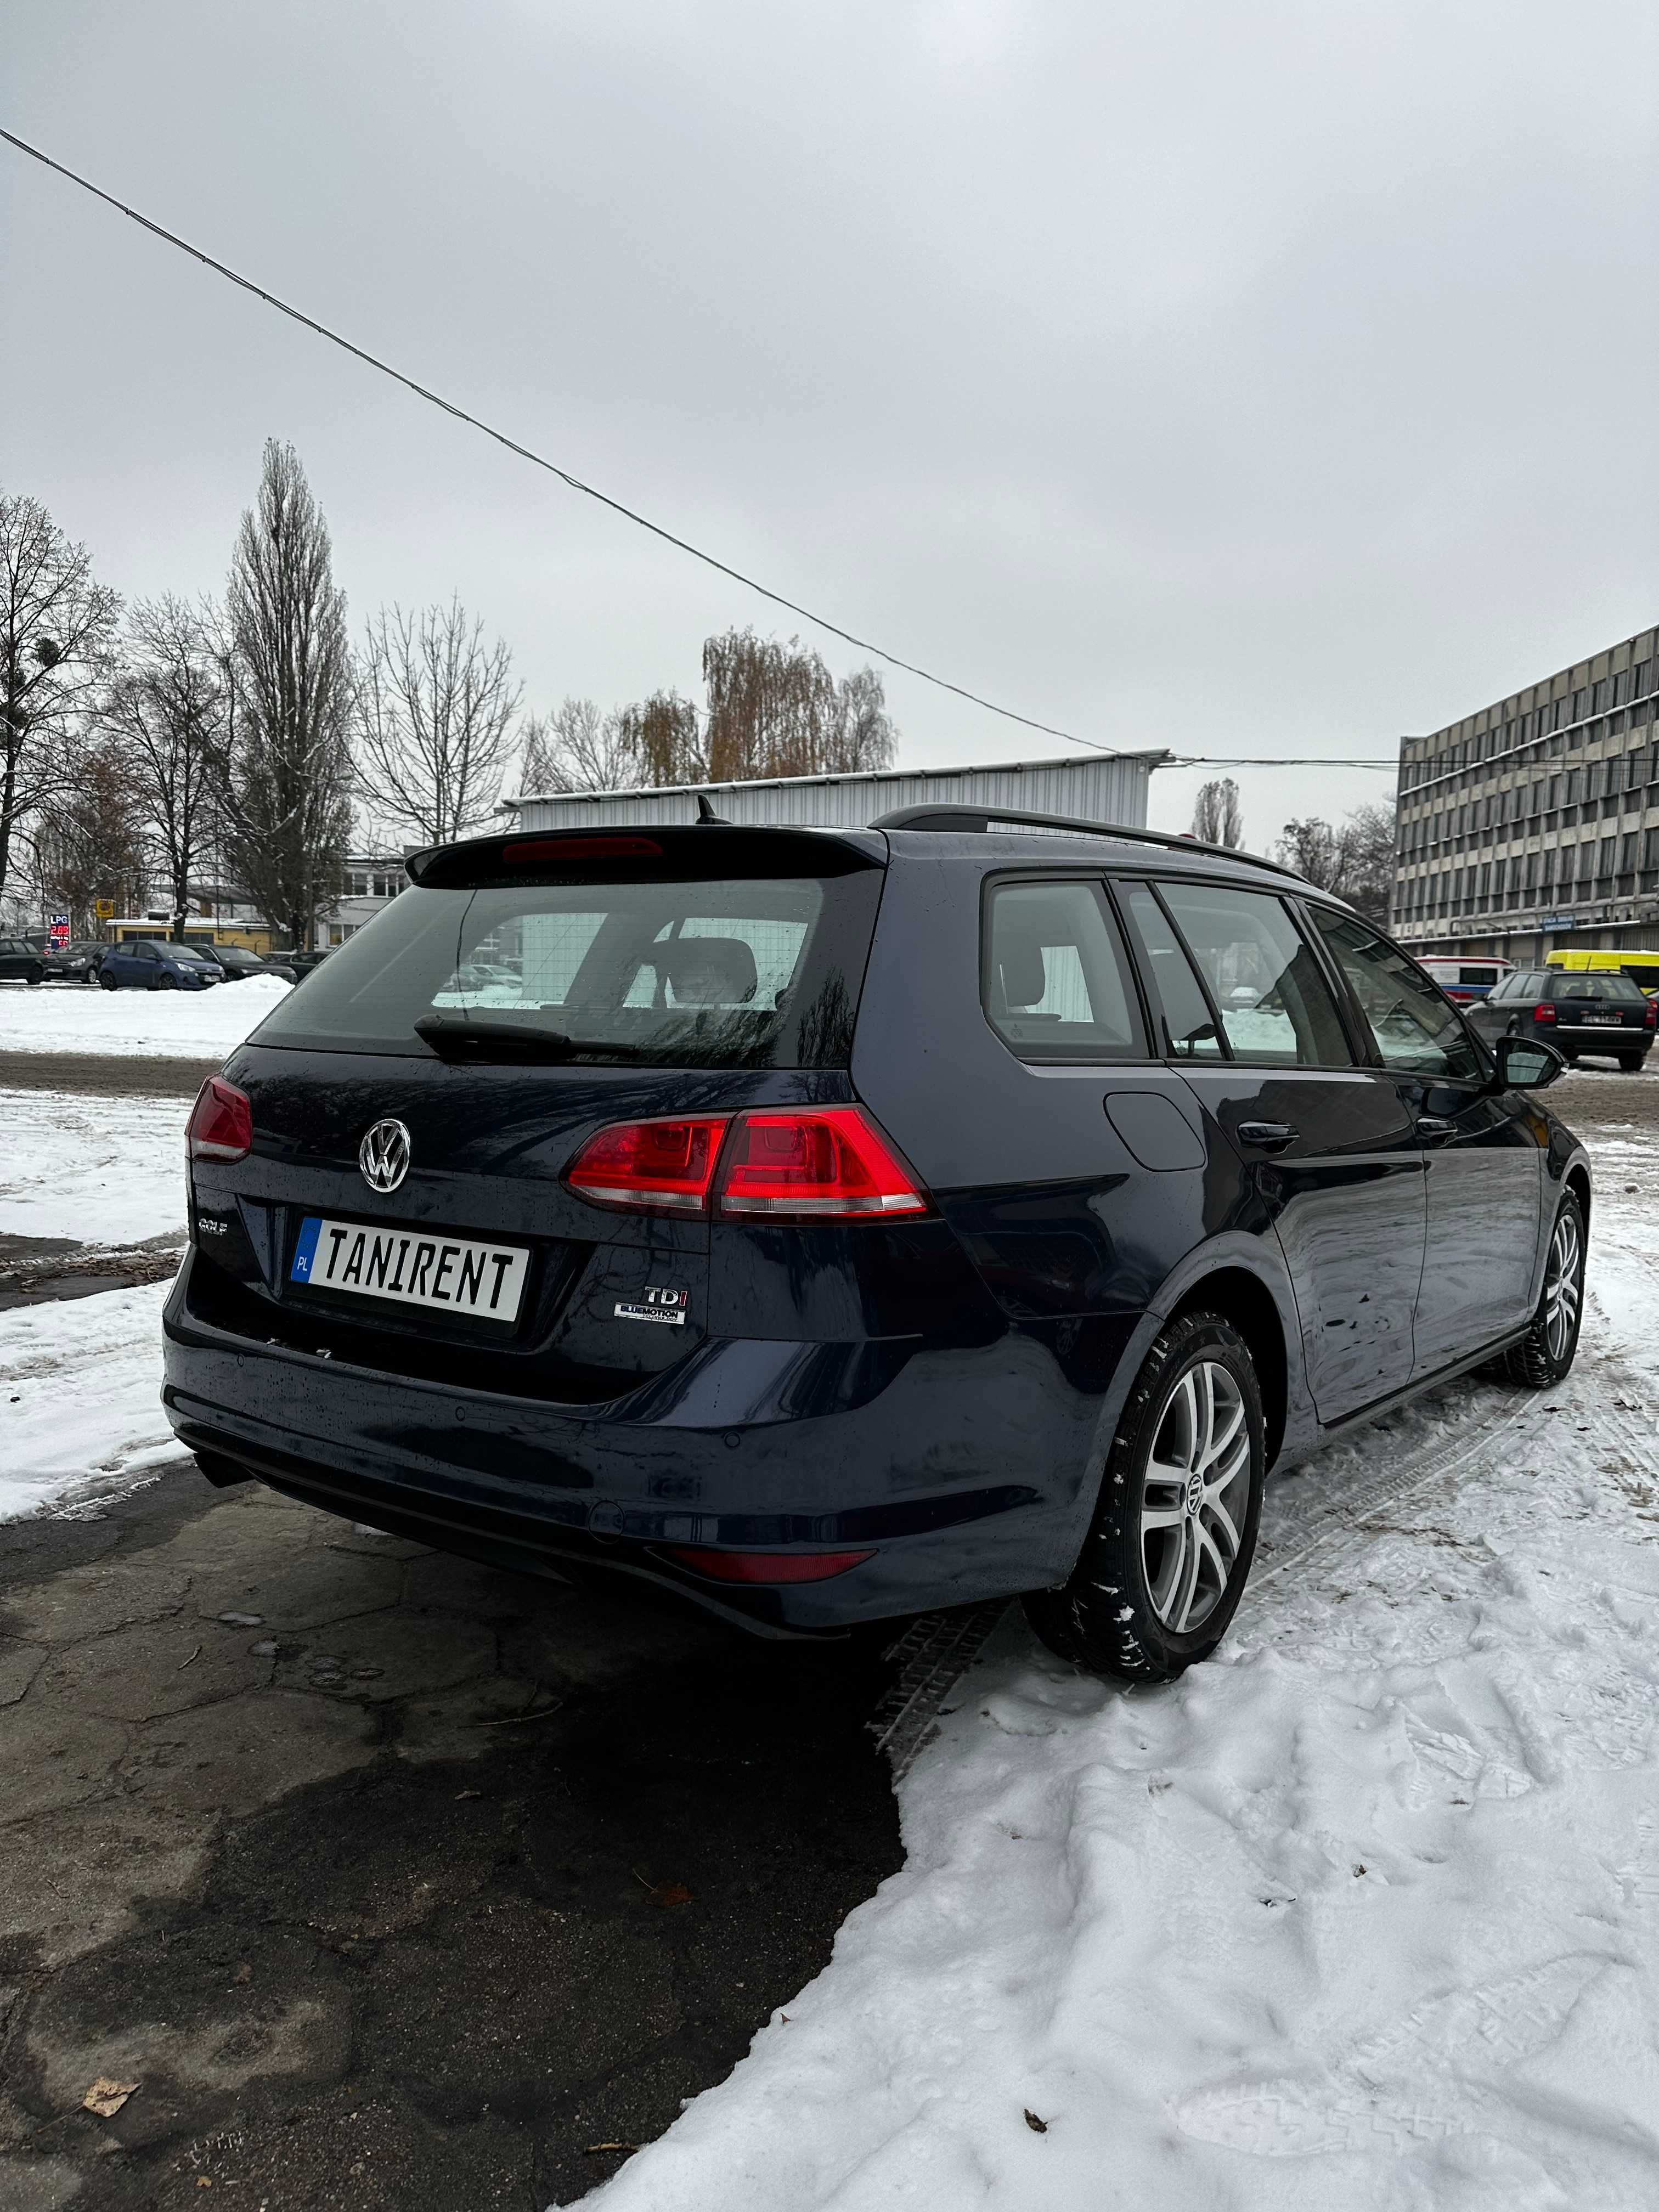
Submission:
[[[161,1411],[168,1285],[0,1314],[0,1520],[133,1489],[179,1455]]]

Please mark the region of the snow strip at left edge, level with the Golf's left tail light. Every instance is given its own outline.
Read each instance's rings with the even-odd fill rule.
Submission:
[[[0,1237],[184,1237],[188,1113],[188,1099],[0,1088]]]

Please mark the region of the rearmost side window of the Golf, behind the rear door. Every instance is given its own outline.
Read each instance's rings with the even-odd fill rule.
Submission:
[[[1117,929],[1093,883],[993,885],[980,995],[1022,1060],[1146,1051]]]

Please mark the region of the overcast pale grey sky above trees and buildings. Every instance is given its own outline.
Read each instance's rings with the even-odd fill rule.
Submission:
[[[1655,619],[1650,0],[4,18],[9,128],[1042,721],[1391,754]],[[533,703],[792,628],[4,146],[0,268],[0,480],[124,593],[221,584],[276,434],[354,622],[458,591]],[[1071,750],[887,688],[900,761]],[[1241,785],[1267,843],[1389,779]]]

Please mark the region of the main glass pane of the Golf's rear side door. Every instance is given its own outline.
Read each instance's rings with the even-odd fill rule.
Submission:
[[[1159,891],[1210,987],[1234,1060],[1352,1064],[1336,998],[1281,900],[1210,883],[1161,883]]]

